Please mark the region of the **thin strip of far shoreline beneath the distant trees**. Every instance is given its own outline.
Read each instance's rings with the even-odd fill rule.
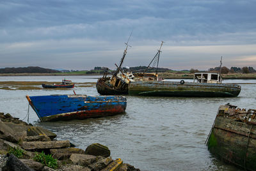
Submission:
[[[99,74],[84,74],[84,73],[1,73],[0,77],[17,77],[17,76],[99,76]],[[164,79],[193,79],[193,73],[159,73],[159,77]],[[256,73],[228,73],[222,75],[224,80],[227,79],[256,79]]]

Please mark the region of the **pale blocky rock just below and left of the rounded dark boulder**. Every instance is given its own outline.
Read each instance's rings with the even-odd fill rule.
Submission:
[[[92,156],[88,154],[71,154],[70,160],[75,165],[81,165],[83,167],[87,167],[88,165],[96,161],[96,156]]]

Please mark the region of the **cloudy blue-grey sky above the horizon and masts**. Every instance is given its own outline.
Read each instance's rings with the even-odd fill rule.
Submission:
[[[256,68],[255,0],[0,0],[0,68]]]

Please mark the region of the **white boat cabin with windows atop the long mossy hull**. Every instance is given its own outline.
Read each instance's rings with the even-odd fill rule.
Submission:
[[[222,83],[222,80],[219,73],[195,73],[194,75],[194,82]]]

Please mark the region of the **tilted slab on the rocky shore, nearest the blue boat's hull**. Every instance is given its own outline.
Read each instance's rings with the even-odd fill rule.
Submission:
[[[28,126],[27,133],[28,136],[45,135],[46,137],[51,138],[51,140],[57,137],[55,133],[52,133],[51,131],[41,128],[39,126]]]

